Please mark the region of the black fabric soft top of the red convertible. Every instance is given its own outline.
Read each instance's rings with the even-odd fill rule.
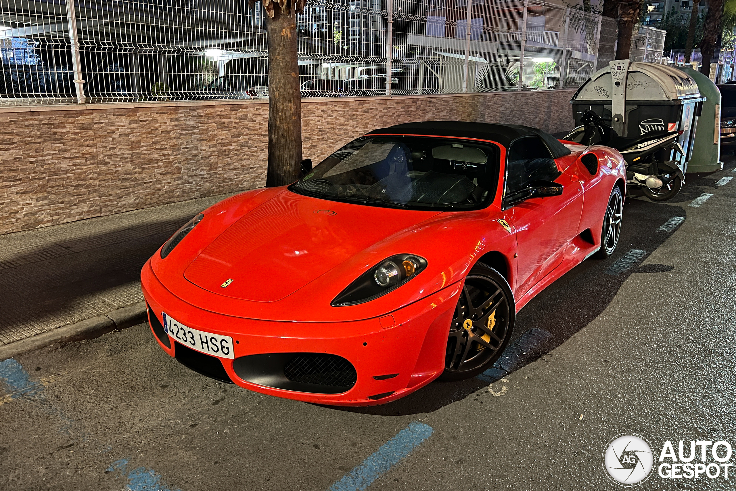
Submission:
[[[534,135],[542,138],[547,144],[553,158],[564,157],[570,154],[570,149],[561,144],[557,138],[537,128],[521,126],[520,124],[492,124],[473,123],[470,121],[417,121],[416,123],[396,124],[387,128],[380,128],[368,133],[409,133],[437,136],[459,136],[465,138],[479,138],[481,140],[498,141],[506,148],[512,141],[523,136]]]

